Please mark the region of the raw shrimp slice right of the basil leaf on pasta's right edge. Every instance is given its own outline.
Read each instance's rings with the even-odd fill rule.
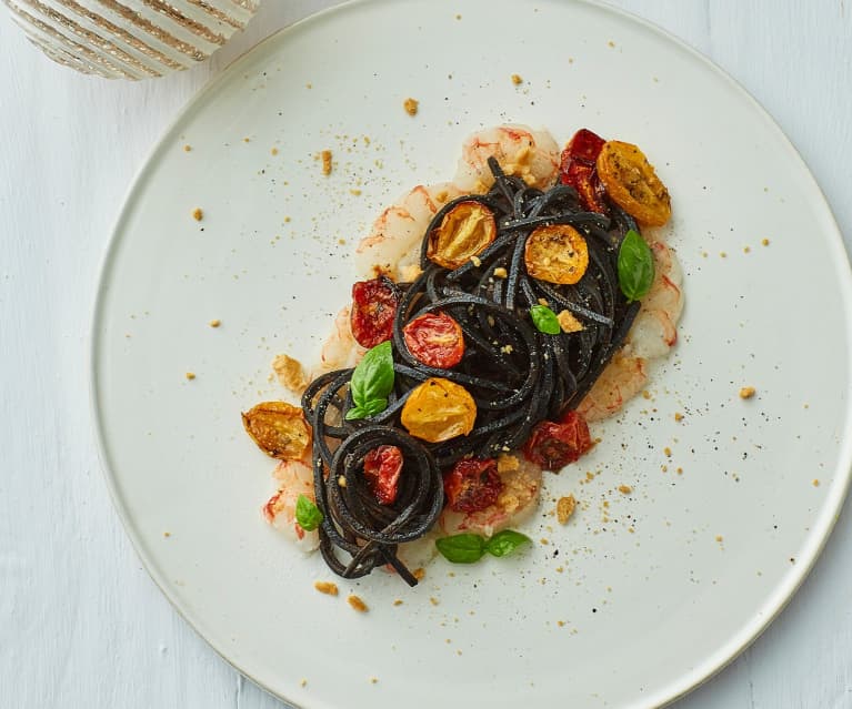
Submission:
[[[680,288],[683,272],[674,250],[652,242],[654,281],[628,333],[624,352],[634,357],[663,357],[678,342],[678,321],[683,311]]]

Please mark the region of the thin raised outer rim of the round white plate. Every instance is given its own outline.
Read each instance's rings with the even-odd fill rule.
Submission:
[[[407,0],[402,0],[405,2]],[[522,0],[513,0],[521,2]],[[548,3],[554,0],[544,0]],[[99,384],[99,363],[100,363],[100,345],[102,342],[101,326],[103,310],[108,301],[109,293],[109,280],[112,269],[114,266],[117,252],[123,241],[123,233],[127,227],[130,215],[134,210],[134,195],[139,189],[151,178],[154,166],[159,162],[160,155],[164,152],[167,143],[170,142],[180,131],[180,125],[190,117],[202,103],[214,94],[221,84],[230,80],[233,73],[238,72],[240,68],[250,61],[258,53],[263,52],[264,49],[269,49],[272,45],[285,41],[285,36],[291,32],[298,32],[302,27],[311,24],[318,21],[322,21],[327,16],[337,14],[357,9],[359,6],[375,6],[387,3],[399,3],[400,0],[344,0],[343,2],[330,6],[322,10],[312,12],[295,22],[287,24],[268,37],[263,38],[249,49],[247,49],[239,57],[234,58],[230,63],[222,68],[214,77],[211,77],[196,93],[188,100],[188,102],[178,111],[176,117],[163,129],[160,136],[153,143],[151,149],[144,156],[140,168],[136,172],[136,175],[131,180],[123,200],[121,203],[121,210],[113,223],[110,231],[108,245],[101,256],[101,261],[98,267],[98,285],[94,292],[94,303],[91,310],[90,327],[89,327],[89,347],[88,347],[88,375],[89,375],[89,403],[90,413],[94,423],[94,438],[98,450],[98,458],[100,460],[101,474],[103,475],[107,489],[109,490],[112,506],[121,520],[124,533],[128,535],[131,545],[137,554],[137,557],[142,563],[143,568],[148,576],[153,580],[156,586],[169,600],[171,607],[178,612],[178,615],[187,622],[187,625],[199,636],[204,642],[215,651],[215,654],[222,658],[228,665],[240,672],[241,676],[248,678],[258,687],[269,692],[273,697],[291,705],[293,709],[300,709],[302,705],[297,702],[290,697],[285,697],[279,693],[277,690],[271,689],[262,680],[254,677],[250,671],[240,667],[234,660],[230,659],[222,648],[211,639],[212,635],[206,627],[203,619],[197,617],[190,610],[184,609],[179,602],[177,596],[172,592],[171,584],[157,568],[156,559],[144,551],[144,543],[136,527],[136,523],[132,521],[130,515],[124,508],[122,502],[122,494],[119,490],[117,484],[114,466],[111,465],[109,448],[106,436],[106,423],[104,417],[99,405],[101,398],[102,387]],[[772,117],[772,114],[761,104],[761,102],[753,97],[734,77],[732,77],[722,67],[716,64],[712,59],[686,43],[684,40],[671,33],[669,30],[660,27],[659,24],[646,20],[634,12],[624,10],[622,8],[614,7],[603,0],[573,0],[574,4],[585,6],[595,11],[614,16],[620,20],[629,20],[631,23],[640,26],[644,31],[655,36],[660,41],[673,44],[681,51],[685,51],[696,60],[705,69],[710,70],[719,79],[723,80],[735,93],[740,100],[744,100],[755,111],[755,113],[763,120],[766,129],[772,130],[775,138],[780,140],[790,156],[798,160],[800,166],[806,174],[806,181],[810,186],[815,190],[815,195],[819,195],[821,200],[821,206],[824,207],[824,215],[828,217],[824,224],[825,236],[828,243],[832,250],[835,259],[836,273],[839,276],[839,283],[841,287],[842,296],[842,310],[846,315],[846,322],[849,327],[846,328],[845,336],[852,350],[852,264],[850,264],[850,256],[843,242],[843,236],[840,231],[834,212],[831,207],[825,193],[820,186],[816,178],[808,165],[806,161],[802,156],[801,152],[793,144],[790,138],[784,133],[782,128]],[[571,3],[565,3],[571,4]],[[830,236],[829,236],[830,232]],[[843,277],[842,265],[845,263],[845,277]],[[852,399],[846,405],[846,421],[852,421]],[[682,699],[686,695],[698,689],[703,683],[713,679],[722,670],[724,670],[731,662],[733,662],[744,650],[753,645],[758,638],[769,628],[769,626],[784,611],[790,601],[796,595],[803,583],[810,576],[816,561],[821,558],[825,545],[832,536],[836,521],[840,518],[843,505],[848,498],[850,487],[852,486],[852,433],[846,434],[845,438],[840,442],[840,449],[838,455],[838,467],[833,470],[834,474],[842,474],[844,479],[841,485],[833,485],[831,493],[826,496],[823,505],[819,509],[819,515],[812,525],[811,531],[805,537],[805,545],[803,548],[808,549],[806,563],[796,564],[795,571],[789,574],[778,584],[771,592],[769,592],[758,611],[753,615],[751,621],[743,625],[739,632],[729,638],[726,642],[720,646],[715,652],[706,656],[702,662],[696,665],[691,671],[681,675],[680,677],[671,680],[668,685],[661,688],[655,695],[642,698],[642,707],[668,707],[678,700]],[[320,701],[320,700],[318,700]],[[651,702],[651,703],[648,703]],[[321,705],[318,703],[318,707]],[[638,705],[639,706],[639,705]]]

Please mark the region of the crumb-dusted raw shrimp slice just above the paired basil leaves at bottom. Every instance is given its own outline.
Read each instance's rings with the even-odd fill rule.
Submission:
[[[501,529],[518,527],[532,515],[541,495],[541,468],[517,453],[500,456],[498,474],[503,489],[497,502],[475,513],[457,513],[445,507],[439,519],[442,531],[490,537]]]

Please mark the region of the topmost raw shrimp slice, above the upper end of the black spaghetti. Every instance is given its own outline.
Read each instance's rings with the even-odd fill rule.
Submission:
[[[462,192],[482,193],[494,184],[488,159],[495,158],[503,172],[528,185],[545,189],[557,181],[560,151],[548,131],[529,125],[495,125],[468,136],[453,182]]]

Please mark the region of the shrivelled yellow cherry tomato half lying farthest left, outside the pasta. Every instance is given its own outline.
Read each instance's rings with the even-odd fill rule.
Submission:
[[[300,406],[263,402],[242,415],[245,433],[273,458],[298,460],[311,445],[311,429]]]

